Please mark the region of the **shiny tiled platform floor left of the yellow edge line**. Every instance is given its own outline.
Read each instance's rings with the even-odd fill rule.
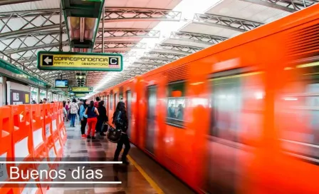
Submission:
[[[87,141],[80,136],[80,126],[70,128],[66,123],[68,140],[64,147],[64,160],[73,161],[111,161],[115,151],[116,144],[108,142],[105,138]],[[129,194],[129,193],[157,193],[150,183],[143,177],[135,165],[124,164],[86,164],[90,169],[103,170],[101,181],[122,181],[122,184],[107,186],[92,186],[91,188],[83,185],[83,188],[50,188],[48,194]],[[60,168],[67,168],[63,165]],[[74,167],[74,166],[73,166]]]

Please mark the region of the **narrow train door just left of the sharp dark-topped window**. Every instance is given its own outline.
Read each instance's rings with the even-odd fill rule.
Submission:
[[[155,146],[155,128],[156,128],[156,101],[157,101],[156,86],[149,86],[147,88],[147,128],[145,149],[154,154]]]

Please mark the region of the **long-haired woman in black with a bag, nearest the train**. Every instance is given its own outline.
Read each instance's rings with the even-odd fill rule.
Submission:
[[[125,103],[120,101],[117,103],[116,110],[113,114],[113,124],[115,124],[116,129],[120,129],[122,131],[122,136],[120,140],[117,142],[117,148],[114,153],[114,160],[117,161],[120,155],[120,152],[123,148],[123,144],[125,145],[124,151],[122,153],[122,162],[128,164],[127,154],[131,148],[130,141],[127,136],[127,128],[128,128],[128,118],[125,109]]]

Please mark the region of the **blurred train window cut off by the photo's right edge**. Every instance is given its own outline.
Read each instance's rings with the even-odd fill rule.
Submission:
[[[283,148],[297,155],[318,158],[319,66],[311,64],[314,63],[286,70],[294,72],[294,76],[284,87],[276,111],[280,113],[277,123]]]

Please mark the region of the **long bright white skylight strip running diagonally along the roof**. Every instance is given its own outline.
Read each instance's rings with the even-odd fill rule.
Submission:
[[[156,44],[160,44],[166,39],[169,39],[170,34],[172,31],[179,31],[182,29],[183,26],[186,26],[194,17],[194,14],[204,14],[206,11],[211,9],[212,6],[215,6],[222,0],[183,0],[177,6],[174,7],[172,11],[181,11],[182,17],[180,21],[161,21],[157,26],[153,28],[153,30],[160,31],[160,38],[158,39],[142,39],[139,43],[146,43],[146,49],[131,49],[127,56],[135,56],[130,58],[130,62],[125,62],[123,64],[125,68],[132,65],[136,60],[141,58],[145,52],[152,51],[155,48]],[[105,83],[111,81],[113,77],[120,76],[122,72],[112,72],[108,73],[106,77],[101,81],[97,87],[94,88],[94,91],[102,88]],[[93,96],[91,94],[90,96]],[[89,96],[89,97],[90,97]],[[89,98],[88,97],[88,98]]]

